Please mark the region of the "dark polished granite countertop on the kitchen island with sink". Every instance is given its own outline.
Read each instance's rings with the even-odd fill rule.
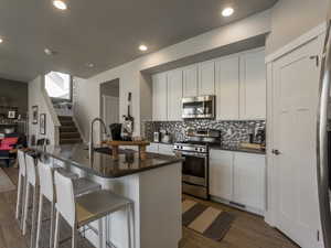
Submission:
[[[82,143],[33,147],[32,149],[40,154],[50,155],[54,159],[70,163],[73,166],[77,166],[87,173],[108,179],[136,174],[182,161],[182,159],[177,157],[156,153],[147,153],[147,159],[141,161],[138,157],[138,152],[132,150],[134,162],[126,161],[124,150],[119,152],[120,154],[117,161],[113,160],[110,154],[100,152],[94,152],[92,161],[88,157],[87,145]]]

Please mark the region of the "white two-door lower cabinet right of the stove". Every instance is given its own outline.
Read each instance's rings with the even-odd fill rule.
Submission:
[[[266,157],[212,149],[210,194],[263,213],[266,208]]]

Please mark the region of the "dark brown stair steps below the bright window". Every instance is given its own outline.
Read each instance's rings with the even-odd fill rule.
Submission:
[[[60,127],[60,144],[82,143],[83,140],[78,129],[71,116],[58,116]]]

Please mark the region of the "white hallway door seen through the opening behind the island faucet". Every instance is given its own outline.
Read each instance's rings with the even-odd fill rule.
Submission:
[[[106,126],[119,122],[119,98],[113,96],[103,96],[104,117]]]

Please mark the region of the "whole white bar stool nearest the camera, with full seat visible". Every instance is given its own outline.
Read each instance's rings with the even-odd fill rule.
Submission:
[[[98,248],[106,248],[105,229],[107,225],[104,225],[103,222],[107,215],[124,208],[127,211],[128,247],[132,247],[131,244],[135,244],[131,240],[134,225],[130,220],[130,218],[134,218],[132,201],[106,190],[95,191],[75,198],[74,185],[71,179],[55,172],[54,180],[56,188],[54,248],[58,248],[60,216],[73,229],[72,248],[77,247],[77,229],[95,220],[98,220]]]

